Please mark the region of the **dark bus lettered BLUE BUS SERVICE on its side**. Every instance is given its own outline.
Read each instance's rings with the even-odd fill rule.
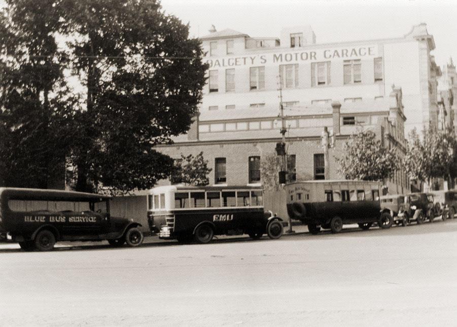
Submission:
[[[24,250],[52,250],[58,241],[143,242],[141,225],[110,215],[111,197],[59,190],[0,188],[0,234]]]

